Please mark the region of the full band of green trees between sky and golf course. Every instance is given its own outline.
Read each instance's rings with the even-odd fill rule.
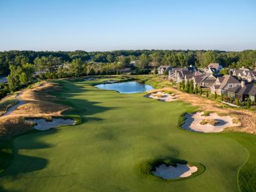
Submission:
[[[136,64],[131,64],[132,60],[136,60]],[[27,86],[36,78],[119,74],[120,69],[127,67],[136,74],[148,74],[159,65],[206,67],[211,62],[219,62],[223,67],[245,66],[252,69],[256,64],[256,50],[5,51],[0,52],[0,76],[8,76],[8,86],[0,85],[0,98]]]

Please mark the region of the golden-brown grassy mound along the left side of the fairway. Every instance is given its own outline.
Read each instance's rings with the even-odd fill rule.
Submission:
[[[18,106],[9,111],[8,115],[0,117],[0,137],[16,135],[26,132],[33,127],[33,122],[25,118],[45,118],[52,116],[61,117],[62,111],[68,110],[68,106],[54,103],[57,99],[50,95],[51,91],[61,89],[57,84],[44,83],[37,88],[28,89],[18,95]]]

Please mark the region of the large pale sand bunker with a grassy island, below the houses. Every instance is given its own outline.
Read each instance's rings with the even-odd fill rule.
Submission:
[[[185,124],[182,128],[185,130],[190,130],[194,132],[222,132],[226,127],[238,126],[233,123],[233,118],[231,116],[218,116],[217,113],[210,113],[209,116],[202,116],[204,112],[197,112],[194,114],[185,115]],[[215,125],[211,123],[203,123],[203,121],[215,121]],[[204,124],[204,125],[202,125]]]

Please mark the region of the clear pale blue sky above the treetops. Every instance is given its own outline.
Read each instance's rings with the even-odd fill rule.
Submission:
[[[256,49],[256,0],[0,0],[0,50]]]

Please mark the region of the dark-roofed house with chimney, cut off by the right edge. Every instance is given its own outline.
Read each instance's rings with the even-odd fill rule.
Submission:
[[[241,81],[241,86],[228,89],[228,97],[240,101],[246,101],[250,98],[251,101],[256,101],[256,84],[245,84]]]

